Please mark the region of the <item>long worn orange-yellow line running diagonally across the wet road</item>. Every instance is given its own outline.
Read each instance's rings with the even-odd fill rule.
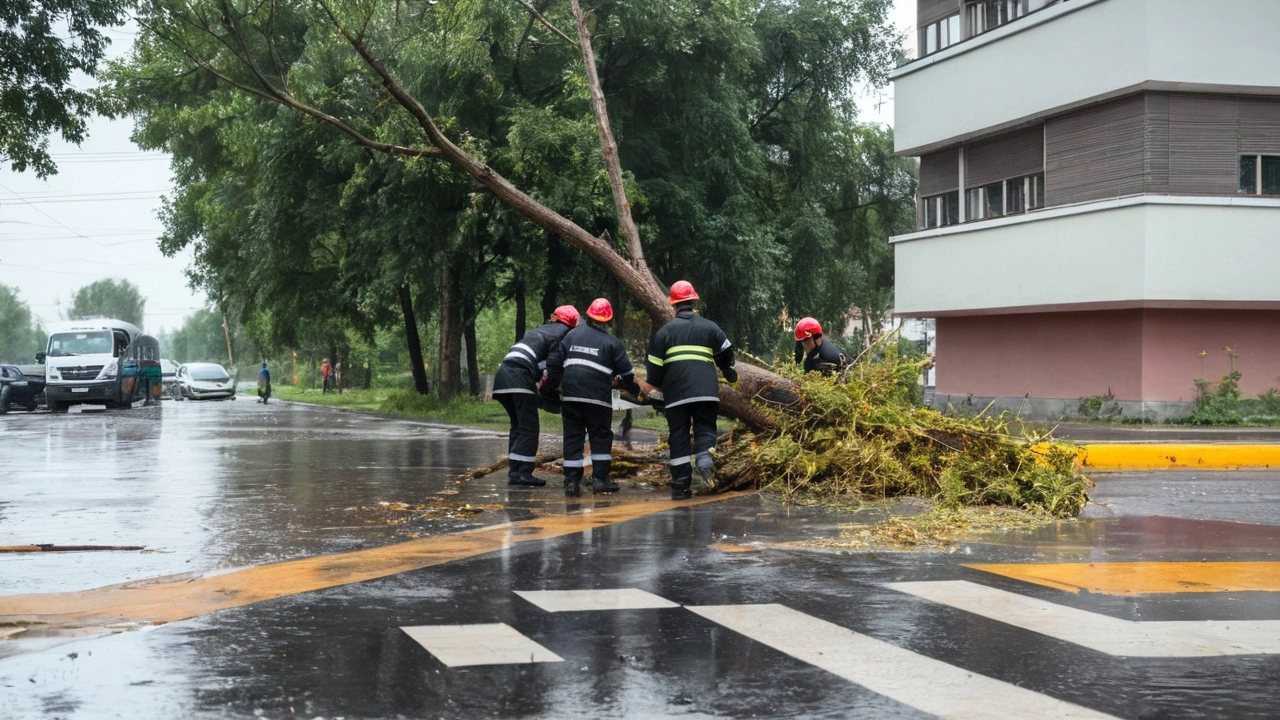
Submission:
[[[370,550],[259,565],[216,575],[165,575],[79,592],[0,596],[0,626],[65,634],[76,628],[163,624],[264,600],[385,578],[431,565],[634,520],[664,510],[748,493],[685,501],[632,502],[573,515],[548,515]]]

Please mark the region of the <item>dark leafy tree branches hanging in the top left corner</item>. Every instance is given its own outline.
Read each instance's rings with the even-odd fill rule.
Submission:
[[[128,0],[0,0],[0,160],[15,172],[58,172],[49,136],[84,140],[84,118],[101,104],[78,90],[109,40],[101,27],[124,20]]]

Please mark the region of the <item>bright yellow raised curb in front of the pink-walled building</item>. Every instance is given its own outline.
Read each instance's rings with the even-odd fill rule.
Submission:
[[[1084,445],[1079,462],[1087,469],[1112,471],[1280,468],[1280,445]]]

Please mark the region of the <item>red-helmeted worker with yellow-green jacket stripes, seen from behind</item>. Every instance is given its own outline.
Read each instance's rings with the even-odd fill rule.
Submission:
[[[676,318],[649,338],[646,382],[662,391],[671,430],[671,498],[692,497],[694,468],[703,482],[716,471],[710,450],[716,446],[719,382],[716,366],[730,384],[737,384],[733,345],[716,323],[694,314],[698,292],[686,281],[671,286]],[[689,432],[694,441],[690,448]]]

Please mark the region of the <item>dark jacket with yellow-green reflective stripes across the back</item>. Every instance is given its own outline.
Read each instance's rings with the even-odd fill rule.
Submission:
[[[667,407],[719,402],[717,365],[721,370],[733,366],[733,343],[716,323],[680,310],[649,338],[645,379],[662,388]]]

